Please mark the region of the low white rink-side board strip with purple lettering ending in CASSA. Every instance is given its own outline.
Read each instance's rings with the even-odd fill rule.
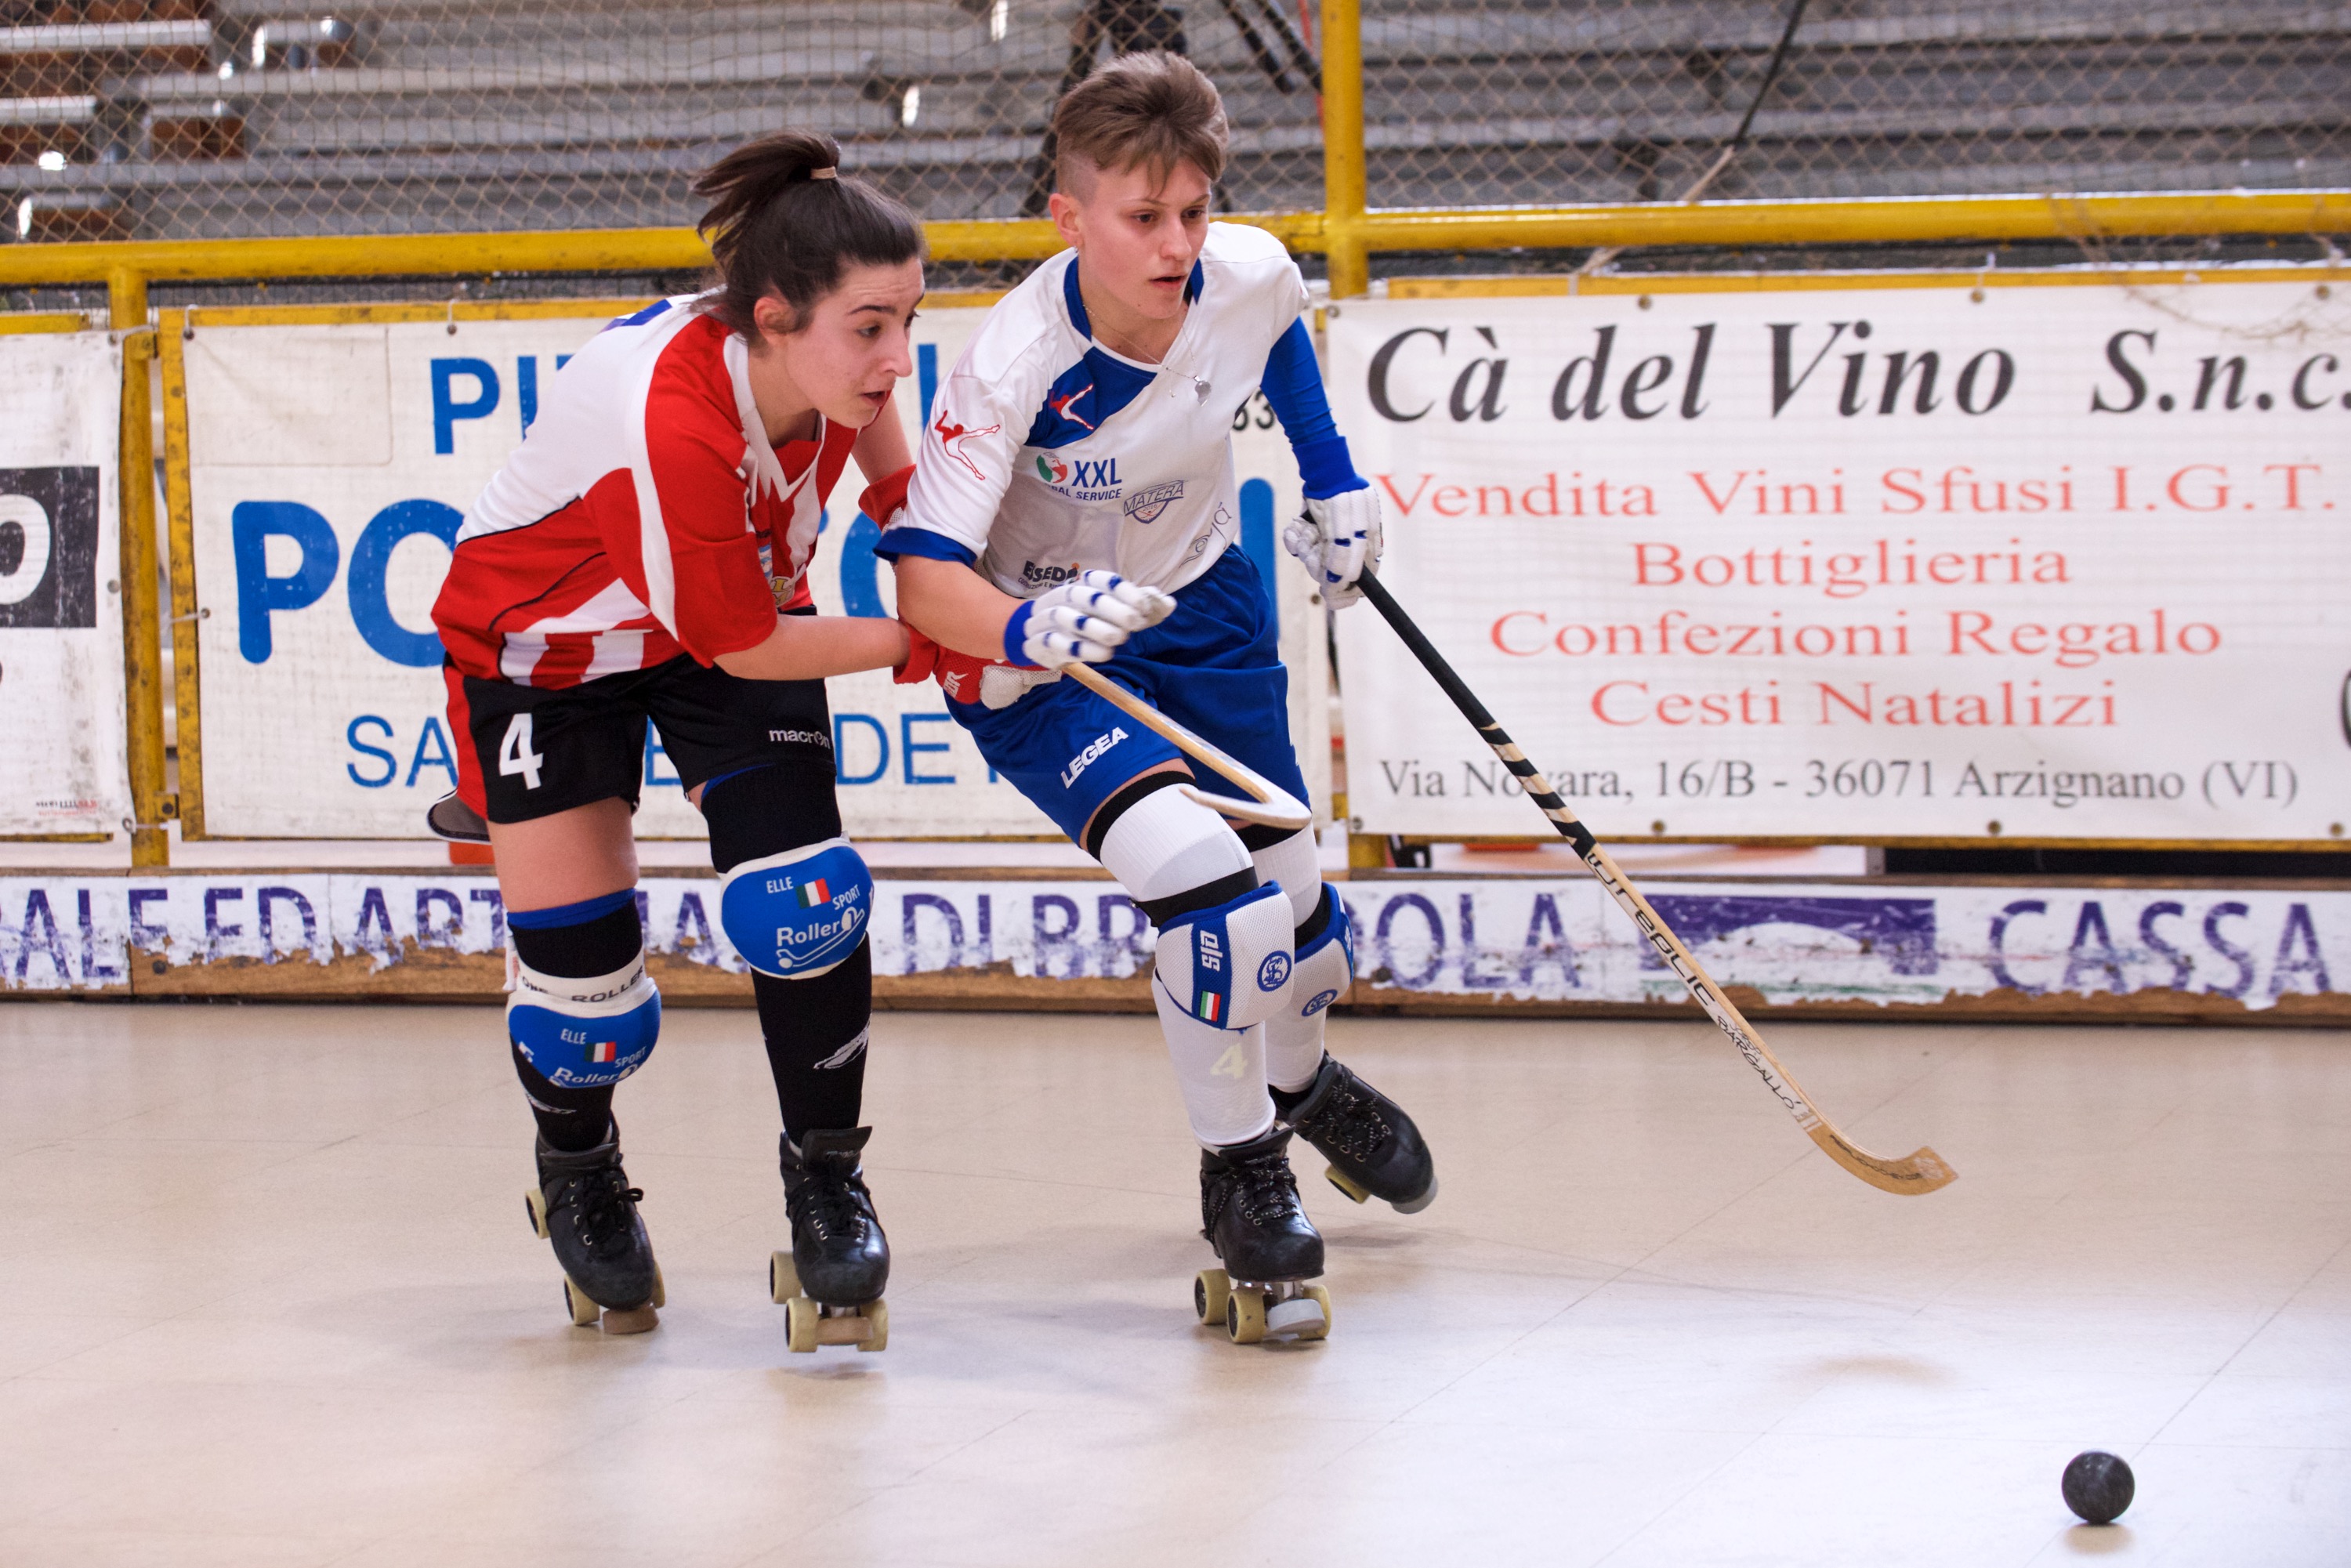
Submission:
[[[1357,1001],[1688,999],[1589,877],[1338,886],[1368,987]],[[2339,891],[1660,882],[1648,898],[1716,980],[1770,1004],[1933,1006],[2010,992],[2266,1011],[2351,983],[2351,893]],[[743,973],[715,900],[710,877],[647,877],[647,947]],[[1152,926],[1100,879],[882,879],[872,945],[877,976],[1009,969],[1100,980],[1150,969]],[[346,964],[320,985],[355,987],[404,964],[503,947],[498,884],[465,870],[0,877],[0,992],[120,990],[172,969],[254,964]],[[473,985],[494,994],[501,978],[484,966]]]

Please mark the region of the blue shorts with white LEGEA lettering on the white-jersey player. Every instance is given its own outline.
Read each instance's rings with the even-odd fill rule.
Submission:
[[[1270,783],[1307,797],[1291,750],[1281,632],[1246,550],[1225,550],[1176,595],[1173,616],[1128,637],[1119,656],[1096,670]],[[1032,686],[1011,708],[950,701],[947,712],[971,731],[987,766],[1079,844],[1086,820],[1119,785],[1183,757],[1074,679]],[[1192,773],[1211,795],[1244,795],[1241,785],[1197,762]]]

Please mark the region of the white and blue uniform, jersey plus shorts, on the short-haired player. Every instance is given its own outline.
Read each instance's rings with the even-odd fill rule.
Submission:
[[[1103,675],[1302,797],[1272,585],[1232,550],[1232,421],[1260,388],[1307,496],[1364,489],[1331,425],[1298,263],[1260,228],[1211,223],[1159,364],[1093,341],[1077,268],[1077,252],[1053,256],[980,322],[931,402],[905,510],[875,555],[964,562],[1020,599],[1091,569],[1173,592],[1176,614]],[[1077,682],[1037,684],[1009,708],[945,672],[940,684],[990,766],[1079,842],[1121,783],[1178,757]]]

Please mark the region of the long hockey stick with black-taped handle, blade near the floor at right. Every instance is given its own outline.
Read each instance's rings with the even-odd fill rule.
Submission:
[[[1869,1150],[1848,1143],[1846,1135],[1820,1114],[1810,1095],[1796,1086],[1796,1079],[1787,1074],[1780,1058],[1775,1058],[1770,1046],[1763,1044],[1763,1037],[1754,1032],[1754,1025],[1749,1025],[1740,1011],[1730,1006],[1730,999],[1723,997],[1721,987],[1707,976],[1704,969],[1697,966],[1697,959],[1681,945],[1681,938],[1674,936],[1653,907],[1648,907],[1641,891],[1625,879],[1625,872],[1620,872],[1608,851],[1599,846],[1592,830],[1585,827],[1573,811],[1568,811],[1568,802],[1559,799],[1549,780],[1535,769],[1533,762],[1526,759],[1516,743],[1502,733],[1502,726],[1493,722],[1486,705],[1476,701],[1476,693],[1462,684],[1462,677],[1453,672],[1453,665],[1446,663],[1444,654],[1439,654],[1422,630],[1413,625],[1413,618],[1404,614],[1404,607],[1396,604],[1394,597],[1389,597],[1380,578],[1366,571],[1359,583],[1364,585],[1364,597],[1380,609],[1380,616],[1385,616],[1387,625],[1404,639],[1404,646],[1408,646],[1436,684],[1444,686],[1446,696],[1453,698],[1453,705],[1462,710],[1462,717],[1476,726],[1486,745],[1493,748],[1493,755],[1502,759],[1502,766],[1516,773],[1519,783],[1526,785],[1526,797],[1542,809],[1542,816],[1552,818],[1552,827],[1559,830],[1559,837],[1575,846],[1585,867],[1599,877],[1599,884],[1608,889],[1608,896],[1617,900],[1617,907],[1632,917],[1632,924],[1641,929],[1641,936],[1646,936],[1648,945],[1657,950],[1665,966],[1690,987],[1690,997],[1697,999],[1697,1006],[1707,1009],[1707,1018],[1712,1018],[1723,1034],[1730,1037],[1730,1044],[1740,1048],[1747,1065],[1763,1077],[1763,1084],[1780,1098],[1780,1105],[1796,1117],[1796,1126],[1801,1126],[1829,1159],[1881,1192],[1911,1197],[1949,1187],[1958,1178],[1958,1171],[1942,1164],[1942,1157],[1935,1154],[1935,1150],[1918,1150],[1904,1159],[1886,1159],[1883,1154],[1871,1154]]]

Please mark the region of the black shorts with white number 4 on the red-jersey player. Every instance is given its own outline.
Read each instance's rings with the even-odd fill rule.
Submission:
[[[491,823],[529,823],[600,799],[637,809],[644,726],[661,731],[686,790],[759,766],[811,773],[832,790],[832,710],[825,682],[762,682],[679,654],[651,670],[578,686],[517,686],[442,670],[449,726],[473,736],[458,795],[480,795]],[[475,783],[465,790],[465,783]]]

